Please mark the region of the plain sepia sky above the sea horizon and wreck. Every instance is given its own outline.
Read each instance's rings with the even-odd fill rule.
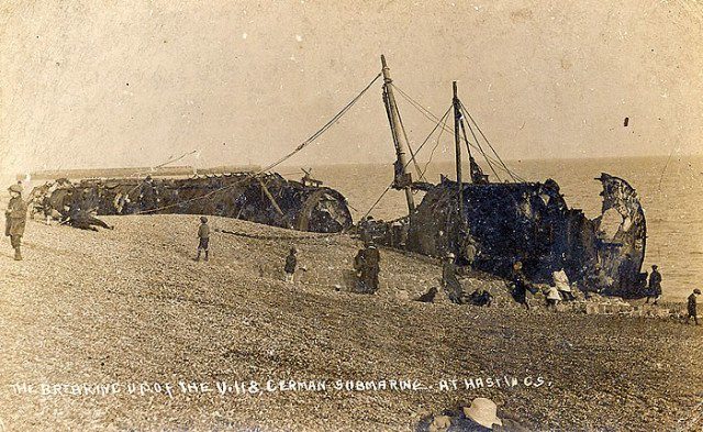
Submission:
[[[355,98],[381,54],[435,114],[458,81],[507,159],[702,154],[702,23],[683,0],[5,1],[0,176],[190,152],[178,163],[267,165]],[[416,148],[434,124],[397,98]],[[445,133],[434,157],[451,152]],[[376,81],[288,163],[393,159]]]

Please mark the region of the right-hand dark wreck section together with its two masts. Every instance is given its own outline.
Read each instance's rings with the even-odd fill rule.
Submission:
[[[550,283],[553,272],[563,268],[582,290],[624,298],[647,295],[647,274],[640,272],[647,240],[645,213],[626,180],[605,173],[596,178],[603,187],[603,202],[595,219],[568,208],[555,180],[526,181],[507,168],[459,100],[454,82],[451,107],[436,124],[443,126],[454,111],[450,132],[457,180],[442,176],[439,184],[413,181],[406,168],[420,148],[413,152],[409,147],[394,99],[397,88],[383,57],[381,63],[383,102],[397,153],[392,187],[405,192],[408,215],[390,222],[362,221],[375,239],[423,255],[445,257],[451,253],[457,265],[471,262],[473,269],[503,277],[510,277],[520,262],[533,283]],[[467,181],[464,146],[470,169]],[[483,155],[494,176],[502,168],[510,179],[489,180],[472,149]],[[415,206],[419,191],[424,197]]]

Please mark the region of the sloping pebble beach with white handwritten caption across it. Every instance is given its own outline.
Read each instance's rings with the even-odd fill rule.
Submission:
[[[439,264],[386,248],[357,295],[347,235],[211,218],[194,262],[194,215],[102,219],[0,251],[5,430],[412,431],[476,397],[537,431],[703,427],[702,326],[524,311],[487,275],[490,308],[412,301]]]

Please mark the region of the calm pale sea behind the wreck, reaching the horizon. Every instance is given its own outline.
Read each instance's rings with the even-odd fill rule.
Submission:
[[[659,266],[663,299],[681,301],[693,288],[703,288],[703,156],[506,160],[505,164],[528,181],[556,180],[567,204],[582,209],[591,219],[601,213],[602,187],[595,178],[607,173],[626,179],[637,190],[647,219],[644,269],[652,264]],[[456,178],[454,162],[432,163],[426,168],[421,164],[420,168],[426,169],[425,178],[431,182],[438,182],[440,174]],[[297,173],[291,169],[282,168],[281,173],[295,178]],[[483,170],[495,179],[488,167],[483,166]],[[464,171],[468,173],[468,167]],[[505,177],[501,171],[498,175]],[[315,166],[312,176],[347,198],[355,221],[369,209],[375,219],[382,220],[408,212],[404,193],[387,191],[393,178],[391,163]],[[416,202],[422,198],[422,192],[419,193]]]

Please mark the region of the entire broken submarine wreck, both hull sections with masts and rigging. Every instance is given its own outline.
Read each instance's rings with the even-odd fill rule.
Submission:
[[[397,153],[391,186],[404,191],[408,215],[389,222],[365,218],[356,226],[359,231],[390,247],[435,257],[453,253],[456,264],[467,265],[470,261],[472,268],[498,276],[510,277],[520,262],[533,283],[547,283],[553,272],[563,268],[582,290],[625,298],[647,295],[647,274],[641,273],[646,220],[637,193],[626,180],[601,174],[596,180],[603,187],[602,214],[595,219],[568,208],[555,180],[526,181],[510,170],[459,100],[455,82],[451,107],[443,118],[434,120],[435,130],[454,132],[457,180],[443,176],[439,184],[427,182],[422,177],[424,181],[414,181],[406,168],[411,162],[416,164],[415,156],[421,148],[415,152],[410,148],[394,90],[409,97],[393,84],[382,56],[381,64],[381,73],[361,93],[313,135],[313,139],[319,136],[338,120],[382,76],[382,98]],[[451,109],[453,131],[446,128]],[[312,139],[291,155],[310,142]],[[469,156],[467,180],[462,175],[464,145]],[[484,157],[498,181],[483,174],[472,148]],[[501,169],[510,178],[501,179],[498,175]],[[46,189],[35,189],[35,202],[59,212],[80,208],[97,209],[98,214],[214,214],[323,233],[346,232],[353,226],[342,193],[316,181],[305,178],[291,181],[278,174],[63,180],[42,188]],[[416,207],[417,192],[424,197]],[[468,250],[475,251],[470,258]]]

